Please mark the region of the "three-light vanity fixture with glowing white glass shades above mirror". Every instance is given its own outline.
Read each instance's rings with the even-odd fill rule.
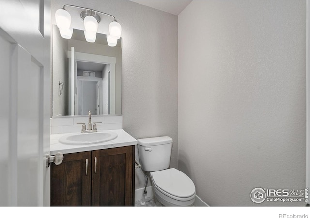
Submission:
[[[109,24],[109,35],[107,35],[107,41],[109,46],[116,46],[117,40],[121,37],[122,27],[116,21],[114,16],[93,9],[69,4],[64,5],[62,9],[58,9],[55,13],[56,24],[59,28],[62,38],[70,39],[73,33],[73,29],[70,27],[71,15],[68,11],[66,11],[65,7],[83,9],[83,11],[80,13],[80,17],[82,20],[84,20],[84,35],[86,41],[91,43],[96,41],[98,23],[101,20],[98,13],[113,17],[114,20]]]

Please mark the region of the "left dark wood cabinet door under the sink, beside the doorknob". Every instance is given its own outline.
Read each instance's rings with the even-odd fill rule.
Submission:
[[[51,165],[51,206],[91,205],[91,157],[90,151],[64,154]]]

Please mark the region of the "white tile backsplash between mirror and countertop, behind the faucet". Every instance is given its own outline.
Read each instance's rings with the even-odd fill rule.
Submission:
[[[92,116],[91,122],[92,126],[93,122],[101,122],[96,124],[98,131],[123,129],[123,116]],[[51,118],[51,134],[80,132],[82,124],[77,123],[85,123],[87,128],[88,116]]]

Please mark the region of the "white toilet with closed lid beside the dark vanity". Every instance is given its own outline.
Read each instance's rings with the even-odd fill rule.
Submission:
[[[157,200],[164,206],[191,206],[196,194],[193,181],[183,172],[169,169],[171,137],[138,139],[138,149],[142,169],[150,172]]]

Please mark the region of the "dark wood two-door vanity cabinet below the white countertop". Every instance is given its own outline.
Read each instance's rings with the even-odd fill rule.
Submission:
[[[134,145],[63,156],[51,165],[51,206],[134,205]]]

